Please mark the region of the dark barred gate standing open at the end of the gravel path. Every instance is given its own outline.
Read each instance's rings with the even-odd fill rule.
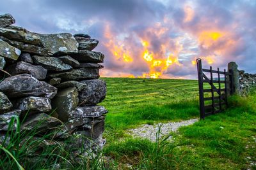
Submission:
[[[198,86],[199,86],[199,101],[200,101],[200,118],[204,119],[209,115],[220,113],[228,106],[227,96],[234,94],[234,80],[232,70],[226,72],[202,68],[202,60],[197,59],[197,72],[198,72]],[[206,73],[210,76],[207,77]],[[213,74],[217,74],[214,78]],[[224,77],[221,79],[220,76]],[[206,89],[205,83],[209,83],[211,89]],[[221,87],[224,85],[224,88]],[[210,104],[205,105],[205,101]]]

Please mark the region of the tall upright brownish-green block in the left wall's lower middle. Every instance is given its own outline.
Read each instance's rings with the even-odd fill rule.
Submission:
[[[70,112],[76,108],[79,103],[78,92],[74,87],[60,90],[52,99],[52,109],[56,109],[59,119],[66,122],[70,117]]]

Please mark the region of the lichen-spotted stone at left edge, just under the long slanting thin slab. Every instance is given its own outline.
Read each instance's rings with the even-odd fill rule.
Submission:
[[[0,28],[1,29],[1,28]],[[20,55],[20,50],[10,46],[8,43],[0,39],[0,56],[6,59],[17,60]]]

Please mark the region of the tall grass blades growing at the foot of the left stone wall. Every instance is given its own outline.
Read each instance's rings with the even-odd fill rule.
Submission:
[[[8,131],[0,136],[0,169],[104,169],[100,151],[92,152],[88,148],[86,156],[75,156],[74,150],[84,148],[70,147],[74,139],[54,141],[52,134],[38,136],[36,127],[31,131],[20,131],[21,124],[19,117],[12,117]],[[82,140],[85,142],[88,138],[84,136]],[[51,143],[45,145],[47,142]]]

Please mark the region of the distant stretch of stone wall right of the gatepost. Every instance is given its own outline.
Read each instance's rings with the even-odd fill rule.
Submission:
[[[256,85],[256,74],[244,73],[239,71],[239,84],[242,96],[246,96],[250,89]]]

